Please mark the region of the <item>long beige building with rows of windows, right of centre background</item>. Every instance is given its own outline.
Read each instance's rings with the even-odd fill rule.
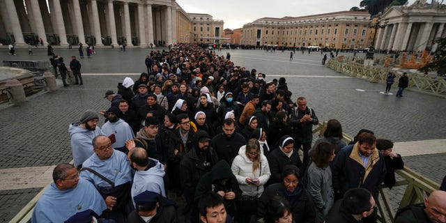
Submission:
[[[263,17],[245,24],[243,45],[364,49],[371,44],[370,14],[341,11],[302,17]]]

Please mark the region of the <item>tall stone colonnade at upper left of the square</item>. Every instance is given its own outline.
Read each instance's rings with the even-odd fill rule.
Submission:
[[[45,45],[170,45],[176,40],[175,1],[0,1],[0,42]]]

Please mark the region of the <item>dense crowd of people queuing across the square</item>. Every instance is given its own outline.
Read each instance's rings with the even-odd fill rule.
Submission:
[[[178,222],[169,194],[187,222],[376,222],[378,188],[403,168],[392,141],[360,130],[346,145],[331,119],[312,144],[307,99],[229,54],[176,45],[145,63],[70,123],[74,165],[56,166],[32,222]],[[426,199],[432,222],[445,193]]]

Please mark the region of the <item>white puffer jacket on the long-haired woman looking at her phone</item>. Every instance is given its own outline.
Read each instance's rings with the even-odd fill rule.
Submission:
[[[268,179],[271,176],[268,160],[266,160],[265,155],[262,153],[259,154],[259,156],[260,168],[256,169],[254,173],[252,172],[252,161],[246,156],[246,146],[240,147],[238,155],[232,162],[231,170],[233,175],[236,176],[243,195],[260,197],[263,193],[263,185],[268,182]],[[256,185],[248,184],[246,182],[247,177],[252,179],[259,178],[259,190],[257,190]]]

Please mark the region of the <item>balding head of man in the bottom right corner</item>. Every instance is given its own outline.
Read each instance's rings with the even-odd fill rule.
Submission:
[[[436,190],[424,200],[426,215],[431,222],[446,223],[446,192]]]

